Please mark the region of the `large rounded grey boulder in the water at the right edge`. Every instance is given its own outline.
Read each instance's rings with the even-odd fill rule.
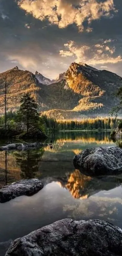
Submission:
[[[122,172],[122,149],[116,146],[85,149],[74,156],[74,166],[89,175]]]

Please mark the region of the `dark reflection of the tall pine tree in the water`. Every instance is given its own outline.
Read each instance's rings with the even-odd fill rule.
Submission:
[[[21,178],[35,178],[38,172],[38,162],[41,161],[44,149],[25,150],[15,153],[16,162],[21,169]]]

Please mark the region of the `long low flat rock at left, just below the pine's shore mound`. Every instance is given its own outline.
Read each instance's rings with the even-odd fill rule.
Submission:
[[[0,147],[0,151],[4,150],[26,150],[31,148],[39,148],[42,146],[48,146],[48,144],[42,144],[41,142],[24,142],[24,143],[12,143],[5,146]]]

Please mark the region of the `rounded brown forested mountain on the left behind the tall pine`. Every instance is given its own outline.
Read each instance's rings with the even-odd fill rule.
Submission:
[[[17,110],[20,105],[21,96],[29,92],[31,96],[41,104],[41,88],[33,73],[27,70],[19,70],[18,67],[7,70],[0,74],[0,113],[5,107],[5,79],[7,82],[7,110]]]

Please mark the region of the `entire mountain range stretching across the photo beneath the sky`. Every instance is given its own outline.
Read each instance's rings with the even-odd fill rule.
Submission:
[[[57,119],[107,115],[117,99],[113,93],[122,86],[122,78],[107,70],[97,70],[85,63],[71,63],[68,70],[55,80],[15,67],[0,74],[0,95],[9,93],[8,110],[16,110],[21,95],[30,92],[41,114]],[[4,97],[0,96],[1,112]],[[3,106],[2,106],[3,105]]]

